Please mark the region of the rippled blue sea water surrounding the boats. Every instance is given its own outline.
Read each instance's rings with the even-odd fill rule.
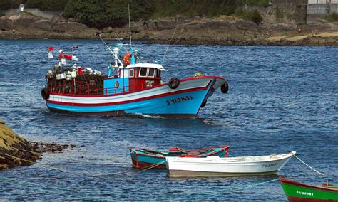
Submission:
[[[197,119],[85,117],[49,112],[41,98],[48,46],[78,50],[78,64],[103,70],[100,41],[0,41],[0,119],[36,142],[76,144],[33,166],[0,171],[0,199],[286,201],[273,176],[170,179],[163,169],[132,169],[128,147],[168,149],[230,144],[231,156],[297,151],[278,173],[308,184],[338,184],[338,48],[138,44],[143,61],[162,60],[163,80],[221,75]],[[67,49],[65,49],[67,53]],[[163,57],[165,55],[165,58]],[[56,56],[56,54],[54,54]],[[163,60],[164,59],[164,60]]]

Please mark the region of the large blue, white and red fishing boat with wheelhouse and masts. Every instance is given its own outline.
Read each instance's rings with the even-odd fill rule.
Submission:
[[[228,90],[225,78],[216,75],[171,78],[163,83],[161,75],[167,70],[162,65],[138,63],[133,48],[121,58],[121,47],[107,46],[115,60],[108,75],[76,64],[67,66],[68,60],[78,59],[60,50],[58,63],[46,74],[47,84],[41,90],[48,109],[86,115],[196,117],[215,90]]]

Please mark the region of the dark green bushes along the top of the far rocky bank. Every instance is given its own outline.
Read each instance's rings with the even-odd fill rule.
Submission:
[[[0,10],[28,8],[45,11],[63,11],[66,18],[76,18],[80,23],[102,28],[122,26],[128,22],[128,4],[132,20],[173,16],[220,16],[236,14],[246,20],[260,23],[258,11],[242,11],[242,6],[265,6],[268,0],[0,0]]]

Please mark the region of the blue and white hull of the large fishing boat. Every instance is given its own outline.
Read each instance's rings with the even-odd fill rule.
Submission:
[[[168,85],[119,95],[63,95],[51,93],[46,105],[53,112],[76,115],[142,114],[160,117],[196,117],[210,93],[225,83],[224,78],[203,77],[181,80],[177,89]]]

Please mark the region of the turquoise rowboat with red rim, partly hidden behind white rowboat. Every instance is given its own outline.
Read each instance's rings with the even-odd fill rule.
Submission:
[[[133,167],[143,168],[154,166],[154,168],[165,168],[165,158],[175,156],[194,156],[194,157],[206,157],[206,156],[220,156],[226,157],[230,146],[218,146],[210,148],[200,149],[187,149],[183,150],[179,147],[173,147],[168,151],[154,151],[151,149],[133,149],[129,148],[131,161]]]

